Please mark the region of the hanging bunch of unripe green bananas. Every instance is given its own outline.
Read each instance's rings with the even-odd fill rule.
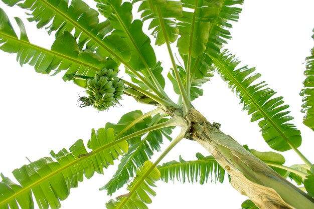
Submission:
[[[93,105],[97,110],[104,111],[122,99],[124,90],[123,82],[117,78],[117,73],[112,69],[99,71],[95,78],[88,79],[85,93],[88,97],[80,97],[80,107]]]

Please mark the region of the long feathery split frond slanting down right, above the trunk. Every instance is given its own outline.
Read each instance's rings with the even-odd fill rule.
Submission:
[[[283,104],[282,97],[274,97],[276,92],[267,87],[265,82],[257,81],[261,75],[254,73],[255,68],[245,66],[236,69],[239,63],[226,51],[214,59],[217,72],[241,99],[243,109],[251,115],[251,121],[259,121],[264,140],[277,151],[300,146],[300,131],[288,123],[293,119],[288,115],[289,106]]]

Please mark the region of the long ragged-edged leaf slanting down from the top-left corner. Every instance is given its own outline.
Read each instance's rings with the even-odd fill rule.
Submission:
[[[86,44],[86,48],[97,50],[105,57],[114,57],[119,62],[128,62],[131,58],[130,49],[124,40],[115,35],[108,35],[112,27],[108,22],[99,23],[98,12],[89,8],[81,0],[71,1],[68,6],[66,0],[3,0],[9,6],[19,3],[21,8],[32,11],[30,21],[37,22],[38,28],[47,28],[50,32],[57,31],[57,35],[74,32],[80,49]]]

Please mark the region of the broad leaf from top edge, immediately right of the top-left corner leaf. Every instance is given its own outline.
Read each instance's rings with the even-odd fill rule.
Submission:
[[[155,66],[156,56],[150,46],[150,39],[142,31],[142,22],[134,20],[132,5],[122,0],[95,0],[99,12],[107,18],[115,29],[112,34],[122,37],[131,48],[131,60],[128,63],[136,70]]]

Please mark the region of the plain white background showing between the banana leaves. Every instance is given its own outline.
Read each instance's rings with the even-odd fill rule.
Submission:
[[[89,2],[94,7],[94,2]],[[50,48],[52,37],[48,37],[44,29],[37,30],[35,24],[27,23],[24,11],[9,8],[2,2],[0,7],[8,13],[12,23],[13,17],[24,20],[31,43]],[[304,80],[304,58],[309,56],[314,45],[310,38],[314,27],[314,2],[255,0],[246,1],[242,8],[239,22],[233,23],[233,39],[226,48],[242,60],[242,65],[256,67],[262,74],[262,80],[278,92],[277,96],[284,97],[290,105],[290,114],[295,118],[293,122],[302,133],[303,142],[299,149],[314,161],[314,134],[302,124],[302,98],[298,95]],[[165,47],[158,52],[160,50],[165,50]],[[165,54],[166,51],[158,54],[158,59],[165,59],[162,57]],[[170,67],[166,59],[163,62],[165,72]],[[0,171],[9,177],[12,177],[12,170],[28,163],[26,157],[35,161],[49,156],[50,150],[57,152],[69,148],[79,138],[87,142],[91,128],[102,127],[106,122],[117,122],[121,115],[131,110],[146,112],[151,109],[136,104],[128,97],[121,101],[121,107],[110,108],[109,112],[79,108],[77,94],[83,95],[84,90],[72,82],[64,83],[60,76],[37,74],[29,65],[21,68],[14,54],[1,51],[0,62]],[[171,85],[167,89],[172,92]],[[247,113],[241,111],[239,100],[219,76],[215,76],[203,89],[204,96],[193,105],[210,122],[221,123],[222,131],[241,144],[260,151],[270,150],[259,133],[257,123],[251,123]],[[165,140],[165,146],[167,144]],[[209,154],[196,142],[183,140],[164,162],[178,160],[180,154],[185,160],[193,160],[196,152]],[[302,163],[292,151],[285,152],[284,156],[286,165]],[[61,202],[62,208],[105,208],[105,202],[110,197],[98,188],[110,179],[113,172],[114,169],[109,169],[105,175],[95,174],[91,179],[85,179],[79,188],[71,189],[70,196]],[[161,181],[157,185],[157,195],[149,208],[230,209],[240,208],[241,202],[246,199],[231,187],[227,179],[217,185],[210,182],[204,185],[166,184]],[[118,191],[113,197],[123,193],[125,191]]]

